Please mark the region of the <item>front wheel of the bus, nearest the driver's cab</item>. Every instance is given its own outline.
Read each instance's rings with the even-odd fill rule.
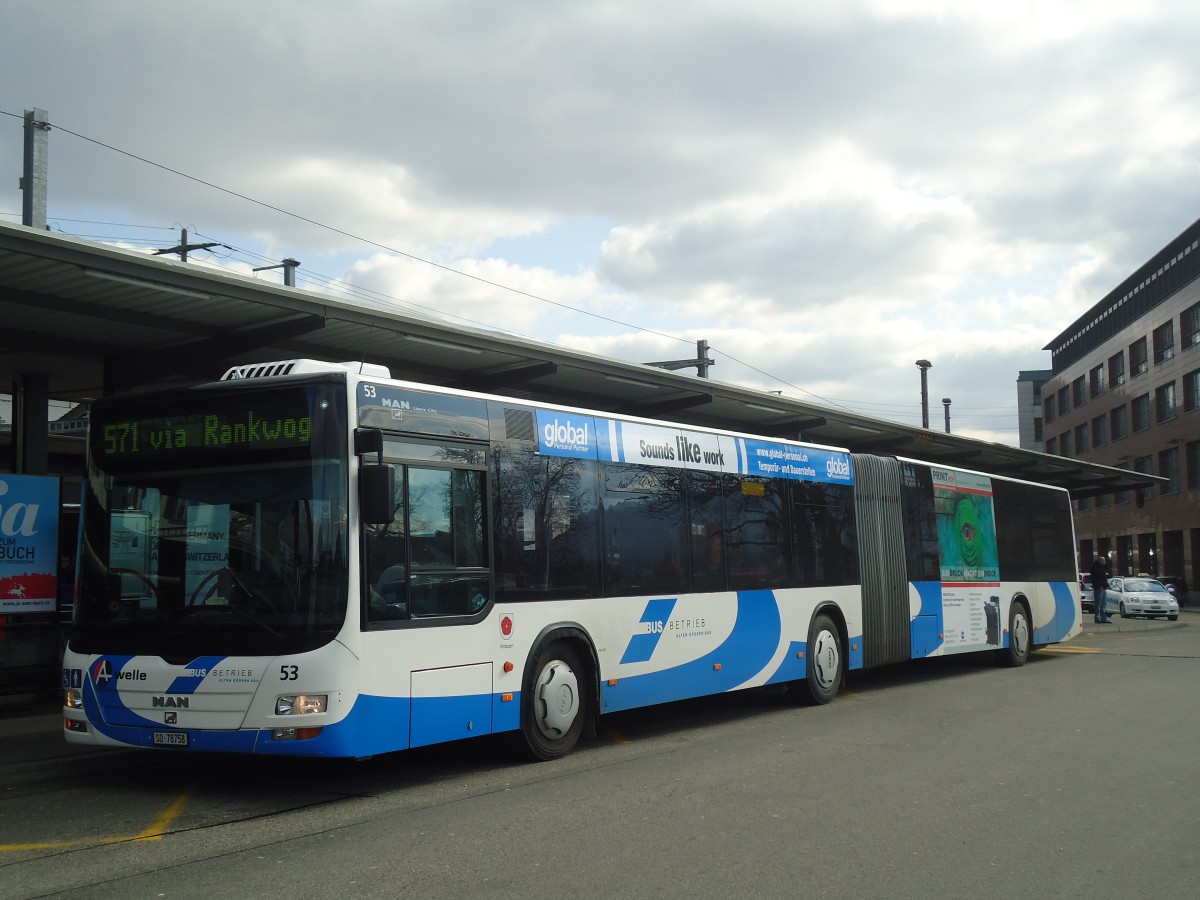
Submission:
[[[566,643],[544,649],[526,676],[521,733],[535,760],[557,760],[575,749],[587,720],[587,676]]]

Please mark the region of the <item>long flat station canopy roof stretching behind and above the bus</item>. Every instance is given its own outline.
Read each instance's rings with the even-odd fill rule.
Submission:
[[[0,390],[41,373],[50,397],[82,402],[298,358],[374,362],[431,385],[906,456],[1079,497],[1160,480],[0,223]]]

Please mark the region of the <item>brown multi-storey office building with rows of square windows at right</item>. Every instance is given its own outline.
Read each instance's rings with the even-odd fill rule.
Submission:
[[[1076,500],[1080,566],[1183,576],[1200,601],[1200,220],[1045,349],[1045,451],[1165,479]]]

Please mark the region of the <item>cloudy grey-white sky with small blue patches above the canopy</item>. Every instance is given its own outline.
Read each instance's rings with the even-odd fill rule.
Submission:
[[[1200,5],[5,0],[0,216],[1016,444],[1200,216]],[[277,272],[259,277],[278,278]],[[217,374],[217,373],[214,373]]]

